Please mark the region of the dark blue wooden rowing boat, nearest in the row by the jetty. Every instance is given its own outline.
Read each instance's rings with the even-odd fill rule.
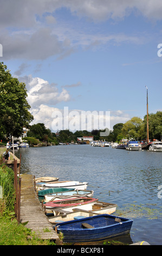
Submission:
[[[64,242],[90,242],[127,234],[132,223],[133,220],[105,214],[58,223],[55,229],[63,233]]]

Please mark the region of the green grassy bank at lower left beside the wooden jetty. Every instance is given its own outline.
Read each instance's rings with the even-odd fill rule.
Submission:
[[[14,172],[3,163],[1,154],[0,186],[0,245],[55,245],[53,241],[38,239],[24,224],[18,224],[14,209]]]

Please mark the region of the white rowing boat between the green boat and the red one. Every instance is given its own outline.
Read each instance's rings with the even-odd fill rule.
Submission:
[[[68,198],[79,198],[79,197],[93,197],[94,191],[93,190],[70,190],[70,191],[63,191],[63,192],[56,192],[47,194],[44,196],[44,202],[56,201],[60,199],[68,199]]]

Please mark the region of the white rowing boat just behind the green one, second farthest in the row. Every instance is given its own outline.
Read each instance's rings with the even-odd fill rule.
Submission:
[[[37,184],[36,184],[37,185]],[[88,182],[79,181],[56,181],[56,182],[41,182],[38,184],[40,189],[46,189],[49,187],[66,187],[66,188],[77,188],[79,190],[86,190]]]

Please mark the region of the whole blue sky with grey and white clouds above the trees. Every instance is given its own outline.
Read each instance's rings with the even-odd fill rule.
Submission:
[[[26,84],[31,124],[112,130],[144,118],[146,87],[148,112],[162,111],[161,0],[0,4],[0,62]],[[86,126],[88,114],[105,123]]]

